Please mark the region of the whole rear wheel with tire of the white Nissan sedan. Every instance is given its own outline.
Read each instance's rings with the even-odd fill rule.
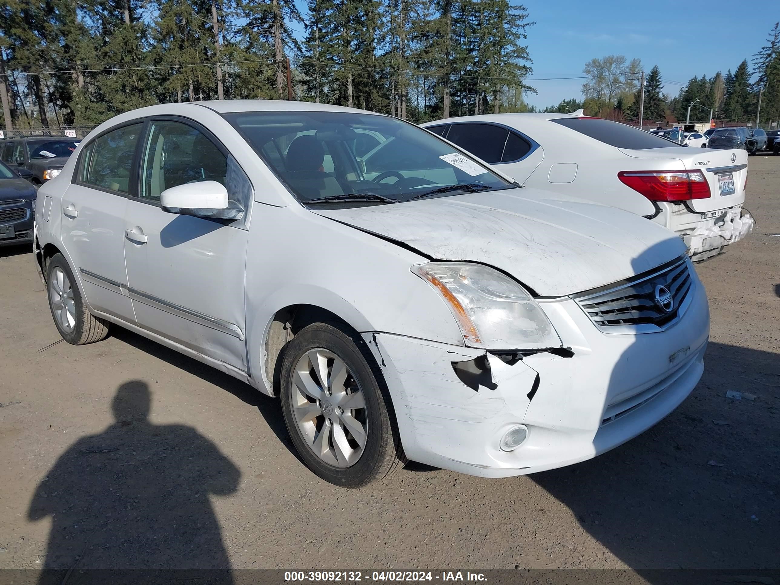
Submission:
[[[84,346],[105,339],[108,321],[87,310],[76,278],[62,254],[51,257],[46,267],[46,293],[54,324],[62,339]]]

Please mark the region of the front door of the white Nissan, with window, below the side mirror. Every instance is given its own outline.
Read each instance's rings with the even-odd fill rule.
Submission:
[[[141,327],[246,372],[246,225],[175,215],[160,204],[164,190],[208,180],[247,209],[249,179],[205,129],[151,120],[138,197],[129,198],[125,214],[129,293]]]

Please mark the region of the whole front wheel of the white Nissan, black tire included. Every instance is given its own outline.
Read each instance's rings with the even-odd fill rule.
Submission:
[[[360,335],[310,324],[289,342],[281,374],[287,431],[319,477],[360,488],[405,463],[385,381]]]

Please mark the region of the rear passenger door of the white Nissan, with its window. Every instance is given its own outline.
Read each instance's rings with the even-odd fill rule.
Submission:
[[[133,323],[125,270],[125,206],[133,154],[143,123],[97,137],[80,154],[76,177],[62,195],[62,243],[90,307]]]

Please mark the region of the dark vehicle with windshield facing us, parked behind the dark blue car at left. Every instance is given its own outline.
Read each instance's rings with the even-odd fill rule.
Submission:
[[[0,140],[0,161],[33,173],[30,181],[41,186],[58,176],[79,140],[61,137],[10,138]]]

